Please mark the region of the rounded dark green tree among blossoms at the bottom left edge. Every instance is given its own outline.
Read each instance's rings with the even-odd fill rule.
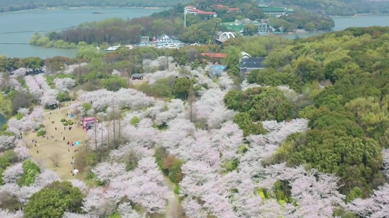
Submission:
[[[81,212],[83,197],[72,183],[55,181],[30,197],[24,215],[25,218],[61,218],[65,211]]]

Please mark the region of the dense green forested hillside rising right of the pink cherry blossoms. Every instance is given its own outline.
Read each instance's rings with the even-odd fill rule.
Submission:
[[[335,173],[347,200],[366,197],[385,183],[381,150],[389,147],[388,40],[388,27],[348,28],[297,40],[268,55],[268,68],[251,73],[248,81],[301,92],[294,109],[305,108],[298,114],[287,110],[290,105],[274,108],[280,115],[273,119],[310,120],[310,130],[289,137],[269,163],[307,164]],[[266,118],[266,111],[254,109],[242,95],[247,93],[227,94],[228,106],[249,112],[254,120]]]

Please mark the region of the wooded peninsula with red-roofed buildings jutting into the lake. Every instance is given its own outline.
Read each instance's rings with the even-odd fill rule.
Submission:
[[[198,5],[198,2],[192,2],[192,4]],[[222,6],[221,8],[215,7],[214,2],[210,0],[203,2],[201,6],[197,6],[196,10],[215,12],[217,17],[187,13],[186,25],[184,25],[185,5],[179,3],[169,10],[147,17],[112,18],[98,22],[84,22],[76,28],[48,32],[45,35],[35,33],[30,44],[47,48],[77,48],[79,43],[87,43],[108,48],[114,44],[136,44],[140,42],[141,36],[149,36],[152,39],[161,34],[176,36],[184,43],[208,43],[216,22],[227,24],[240,21],[242,22],[240,32],[245,36],[256,34],[258,26],[252,24],[254,21],[266,24],[269,29],[270,27],[273,29],[272,31],[284,33],[299,29],[329,31],[335,26],[330,17],[324,17],[308,10],[297,10],[280,17],[272,17],[251,0],[241,0]],[[228,8],[239,10],[228,10]],[[217,25],[216,31],[231,31],[230,28],[231,26],[228,25]]]

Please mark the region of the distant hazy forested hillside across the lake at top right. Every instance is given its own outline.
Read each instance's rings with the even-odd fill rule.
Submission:
[[[355,14],[380,12],[389,13],[387,1],[363,0],[261,0],[261,3],[271,6],[292,7],[293,9],[307,9],[321,14],[334,16],[353,16]]]

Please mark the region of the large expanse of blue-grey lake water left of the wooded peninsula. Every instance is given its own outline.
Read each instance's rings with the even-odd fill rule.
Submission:
[[[77,26],[86,21],[100,21],[112,17],[130,19],[149,16],[164,9],[142,8],[86,8],[68,10],[31,10],[0,15],[0,33],[19,31],[42,31]],[[101,11],[103,14],[92,14]],[[44,33],[42,33],[44,34]],[[29,43],[33,33],[0,34],[0,43]],[[8,57],[75,57],[77,49],[43,48],[32,45],[0,44],[0,55]]]

